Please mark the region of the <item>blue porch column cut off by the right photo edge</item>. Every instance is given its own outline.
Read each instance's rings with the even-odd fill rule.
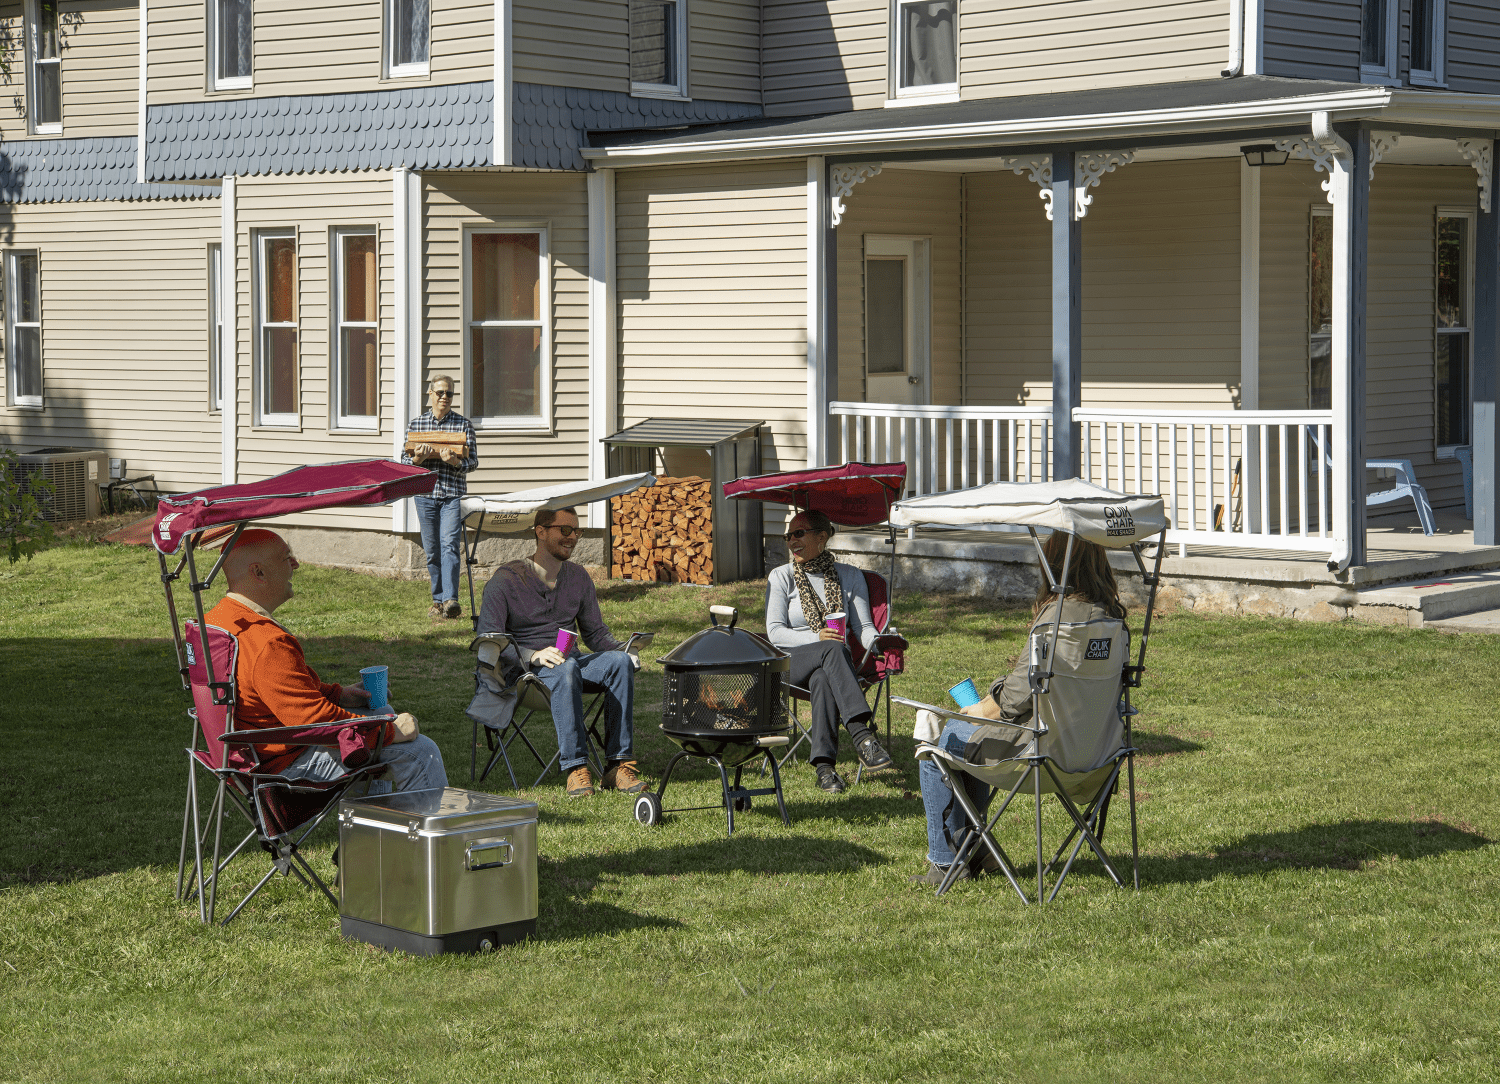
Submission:
[[[1470,444],[1474,457],[1474,546],[1496,546],[1500,538],[1500,207],[1494,199],[1494,171],[1480,172],[1485,189],[1474,228],[1474,345],[1470,367],[1473,418]]]

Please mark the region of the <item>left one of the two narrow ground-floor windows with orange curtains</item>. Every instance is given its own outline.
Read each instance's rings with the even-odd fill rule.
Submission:
[[[297,237],[255,234],[255,421],[302,424],[297,399]]]

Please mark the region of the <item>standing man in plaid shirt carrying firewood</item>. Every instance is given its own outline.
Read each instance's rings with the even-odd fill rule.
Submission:
[[[453,409],[453,378],[434,376],[428,393],[430,408],[406,426],[406,450],[402,463],[416,463],[438,472],[432,496],[414,498],[417,523],[422,526],[422,549],[428,553],[428,576],[432,579],[434,618],[456,618],[459,606],[459,549],[464,514],[459,504],[468,493],[465,474],[478,466],[478,444],[474,426]],[[432,438],[422,439],[423,433]]]

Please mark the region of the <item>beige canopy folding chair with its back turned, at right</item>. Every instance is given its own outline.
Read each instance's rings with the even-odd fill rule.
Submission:
[[[1131,859],[1134,886],[1140,889],[1140,847],[1136,823],[1136,748],[1131,735],[1131,718],[1136,709],[1130,703],[1130,690],[1140,687],[1146,669],[1146,643],[1150,637],[1150,613],[1156,600],[1156,585],[1161,580],[1161,555],[1164,544],[1156,546],[1155,564],[1150,570],[1142,558],[1143,546],[1152,538],[1164,541],[1167,516],[1160,496],[1137,496],[1116,493],[1080,478],[1048,483],[992,483],[954,493],[903,501],[891,510],[891,523],[897,526],[993,526],[999,523],[1020,525],[1030,534],[1041,562],[1042,574],[1054,598],[1059,601],[1068,592],[1068,570],[1072,562],[1077,538],[1108,549],[1130,549],[1149,589],[1146,618],[1140,637],[1140,654],[1130,663],[1130,633],[1122,621],[1080,624],[1064,619],[1059,604],[1050,624],[1040,625],[1029,637],[1029,682],[1032,691],[1032,717],[1028,724],[999,723],[962,715],[945,708],[896,697],[897,703],[932,711],[942,718],[958,718],[966,723],[981,723],[1014,730],[1011,742],[1000,742],[994,757],[980,762],[932,742],[918,747],[918,759],[932,760],[952,789],[970,828],[957,841],[957,858],[948,870],[948,877],[938,886],[938,894],[946,892],[964,864],[978,847],[984,847],[999,864],[1000,871],[1020,895],[1029,903],[1016,876],[1016,864],[994,840],[993,831],[1011,802],[1030,783],[1035,798],[1036,828],[1036,900],[1053,900],[1062,882],[1072,870],[1083,844],[1095,853],[1110,879],[1124,888],[1114,862],[1104,850],[1102,837],[1108,817],[1110,798],[1114,793],[1124,766],[1130,789]],[[1038,528],[1062,531],[1068,535],[1062,579],[1053,577],[1042,559]],[[982,742],[980,753],[982,754]],[[1005,798],[993,816],[986,817],[969,801],[958,774],[972,775],[982,783],[1004,790]],[[1071,831],[1058,846],[1052,861],[1044,861],[1042,795],[1054,795],[1065,810]],[[1071,850],[1068,847],[1071,846]],[[1046,877],[1056,867],[1064,852],[1066,861],[1046,892]]]

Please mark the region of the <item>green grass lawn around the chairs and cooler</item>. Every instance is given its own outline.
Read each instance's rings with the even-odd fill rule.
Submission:
[[[468,622],[429,622],[423,583],[304,568],[297,588],[278,616],[312,664],[390,664],[462,786]],[[666,651],[711,601],[759,627],[760,591],[602,601]],[[940,595],[898,618],[898,691],[933,700],[1006,669],[1024,628]],[[340,940],[282,879],[228,928],[172,898],[189,723],[147,552],[0,570],[0,1081],[1500,1077],[1496,639],[1168,615],[1140,696],[1138,895],[1092,859],[1048,907],[999,879],[909,885],[926,837],[898,711],[904,777],[830,798],[798,766],[792,826],[758,799],[732,841],[712,811],[644,829],[554,777],[528,792],[537,940],[417,960]],[[648,775],[672,751],[660,687],[648,667]],[[686,780],[716,799],[706,769]],[[1024,816],[1004,841],[1028,852]]]

